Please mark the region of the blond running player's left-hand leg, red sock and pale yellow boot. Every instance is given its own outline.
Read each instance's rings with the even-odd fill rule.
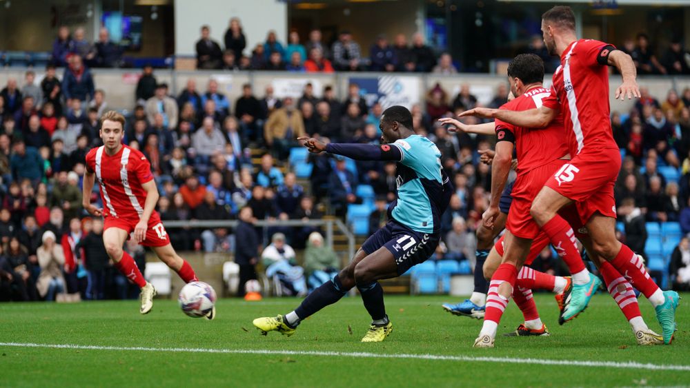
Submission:
[[[156,289],[144,279],[144,275],[139,271],[139,267],[137,267],[132,256],[122,249],[122,245],[127,241],[128,236],[129,233],[125,229],[108,227],[108,220],[106,220],[106,229],[103,231],[103,245],[106,246],[106,252],[108,252],[108,256],[112,259],[115,268],[141,289],[139,294],[141,309],[139,312],[147,314],[153,307],[153,297],[156,296]]]

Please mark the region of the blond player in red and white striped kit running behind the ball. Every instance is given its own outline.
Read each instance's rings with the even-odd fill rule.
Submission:
[[[153,307],[156,289],[139,272],[132,256],[122,246],[134,232],[137,243],[151,247],[158,258],[179,274],[185,283],[197,280],[194,269],[175,253],[170,238],[155,211],[159,194],[146,156],[122,144],[125,118],[110,111],[101,117],[103,145],[86,154],[83,207],[93,216],[103,216],[103,243],[115,267],[141,289],[141,314]],[[91,204],[91,191],[98,181],[103,209]],[[206,318],[213,319],[215,310]]]

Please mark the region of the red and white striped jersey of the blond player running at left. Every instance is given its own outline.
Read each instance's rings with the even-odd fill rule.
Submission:
[[[110,156],[105,147],[86,154],[86,170],[96,174],[103,200],[103,215],[138,220],[144,212],[146,191],[142,185],[153,179],[146,156],[126,145]]]

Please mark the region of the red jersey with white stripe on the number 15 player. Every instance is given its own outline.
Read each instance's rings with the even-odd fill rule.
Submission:
[[[609,69],[597,59],[607,56],[609,43],[592,39],[573,41],[561,56],[553,73],[555,99],[544,106],[560,108],[571,156],[583,148],[615,148],[609,106]]]

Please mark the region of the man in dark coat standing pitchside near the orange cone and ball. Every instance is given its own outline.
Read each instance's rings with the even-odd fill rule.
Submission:
[[[255,265],[259,260],[259,236],[254,229],[254,214],[251,207],[239,211],[239,224],[235,229],[235,263],[239,265],[239,286],[237,296],[245,294],[244,283],[257,278]]]

